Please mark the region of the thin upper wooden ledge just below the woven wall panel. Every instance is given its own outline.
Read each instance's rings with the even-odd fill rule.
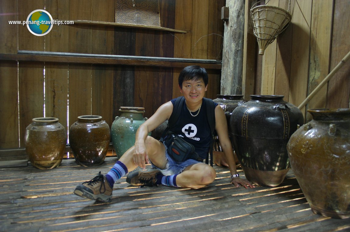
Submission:
[[[138,25],[138,24],[129,24],[129,23],[113,23],[113,22],[101,22],[101,21],[91,21],[91,20],[71,20],[71,21],[73,21],[74,24],[91,24],[91,25],[97,25],[97,26],[111,26],[111,27],[130,27],[130,28],[138,28],[138,29],[153,29],[153,30],[159,30],[159,31],[187,33],[187,31],[185,30],[177,30],[177,29],[166,28],[166,27]],[[67,25],[74,25],[74,24],[67,24]]]

